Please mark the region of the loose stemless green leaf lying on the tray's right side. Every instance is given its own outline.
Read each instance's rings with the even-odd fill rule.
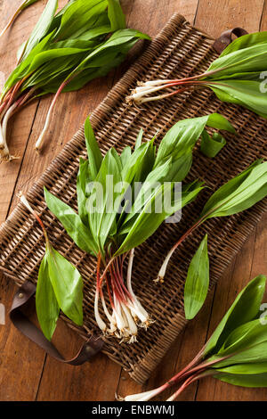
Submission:
[[[209,285],[209,259],[207,234],[193,256],[184,285],[184,312],[187,319],[194,318],[206,300]]]

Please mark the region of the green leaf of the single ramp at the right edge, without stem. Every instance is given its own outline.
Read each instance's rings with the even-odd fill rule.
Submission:
[[[267,162],[247,168],[221,186],[206,202],[200,218],[225,217],[255,205],[267,195]]]

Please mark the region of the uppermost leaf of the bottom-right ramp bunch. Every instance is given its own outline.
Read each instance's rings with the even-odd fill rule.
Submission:
[[[246,324],[257,316],[263,300],[265,284],[266,277],[258,275],[239,292],[231,308],[223,316],[222,321],[207,341],[204,351],[205,356],[218,352],[222,348],[227,336],[234,329],[239,327],[239,325]]]

